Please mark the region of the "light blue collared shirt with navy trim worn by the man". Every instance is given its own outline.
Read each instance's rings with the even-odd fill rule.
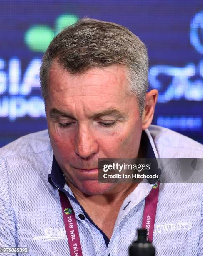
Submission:
[[[203,158],[201,144],[173,131],[151,125],[143,134],[148,157]],[[0,247],[28,247],[32,256],[69,256],[62,189],[75,211],[83,256],[128,256],[151,187],[140,183],[125,198],[109,241],[65,185],[48,131],[23,136],[0,149]],[[203,184],[160,184],[156,256],[203,255],[202,205]]]

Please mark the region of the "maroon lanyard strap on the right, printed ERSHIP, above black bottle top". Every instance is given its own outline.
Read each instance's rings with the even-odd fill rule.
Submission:
[[[145,198],[145,208],[143,212],[142,228],[147,230],[147,240],[152,242],[154,233],[154,223],[156,217],[156,208],[158,204],[159,182],[153,187],[149,195]]]

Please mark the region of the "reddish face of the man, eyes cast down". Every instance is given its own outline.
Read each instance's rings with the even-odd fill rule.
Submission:
[[[88,195],[113,191],[98,182],[98,158],[135,158],[142,120],[126,93],[126,68],[94,67],[70,74],[53,62],[46,115],[55,158],[69,182]]]

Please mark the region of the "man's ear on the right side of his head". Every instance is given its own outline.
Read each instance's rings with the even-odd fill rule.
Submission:
[[[158,98],[158,90],[151,90],[147,92],[145,97],[145,108],[142,116],[142,129],[146,130],[152,123],[154,116],[155,105]]]

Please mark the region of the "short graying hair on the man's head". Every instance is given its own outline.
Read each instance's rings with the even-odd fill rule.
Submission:
[[[54,59],[71,74],[85,72],[91,67],[125,65],[130,84],[128,93],[136,96],[142,115],[148,89],[147,49],[138,36],[124,26],[83,18],[61,31],[48,46],[40,67],[44,100],[48,97],[48,74]]]

